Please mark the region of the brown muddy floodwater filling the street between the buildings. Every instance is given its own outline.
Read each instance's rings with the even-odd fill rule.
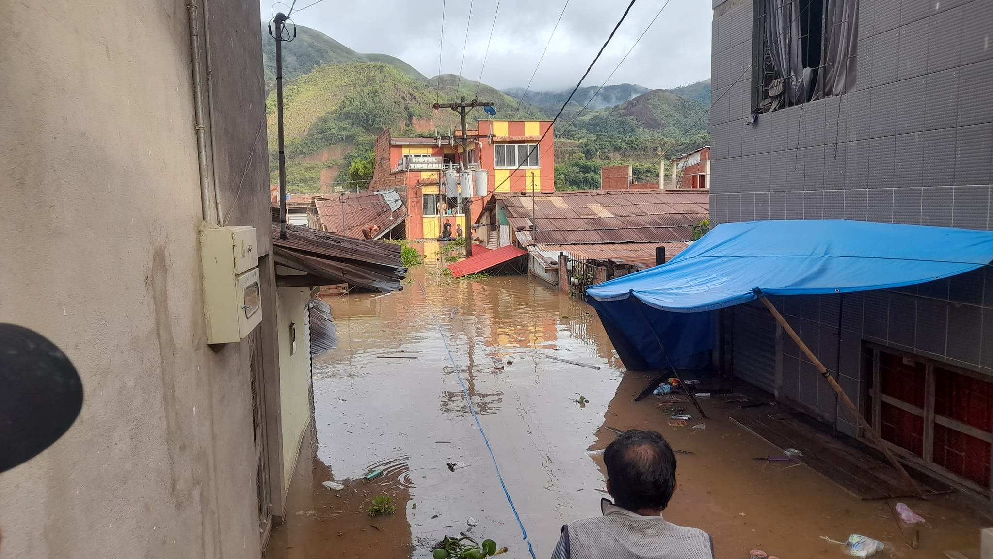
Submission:
[[[425,251],[402,292],[328,299],[341,342],[314,360],[314,429],[265,557],[430,557],[443,536],[468,531],[508,547],[504,557],[530,557],[530,543],[547,558],[562,524],[600,513],[596,451],[629,428],[694,453],[677,457],[664,516],[709,532],[719,558],[755,548],[840,558],[824,538],[852,533],[886,542],[885,557],[979,547],[979,519],[960,497],[902,499],[929,524],[913,549],[896,501],[858,500],[805,466],[755,460],[780,451],[728,421],[721,398],[701,400],[709,420],[669,425],[655,396],[634,402],[648,375],[625,372],[584,303],[525,276],[453,280],[430,261],[437,248]],[[370,517],[380,494],[396,512]]]

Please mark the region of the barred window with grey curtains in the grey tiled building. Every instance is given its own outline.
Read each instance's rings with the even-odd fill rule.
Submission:
[[[752,106],[769,112],[855,85],[860,0],[757,0]]]

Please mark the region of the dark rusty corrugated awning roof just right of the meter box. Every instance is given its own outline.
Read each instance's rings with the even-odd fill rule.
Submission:
[[[286,225],[287,238],[279,238],[279,223],[272,224],[272,248],[277,264],[306,272],[287,276],[303,285],[348,283],[387,293],[403,289],[407,269],[400,262],[400,246],[376,240]]]

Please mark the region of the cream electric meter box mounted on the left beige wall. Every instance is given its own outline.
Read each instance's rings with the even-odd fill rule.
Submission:
[[[262,322],[255,227],[203,229],[200,248],[207,343],[238,342]]]

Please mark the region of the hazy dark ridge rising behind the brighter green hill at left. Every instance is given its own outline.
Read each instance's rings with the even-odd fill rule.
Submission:
[[[297,36],[283,43],[283,78],[293,79],[322,65],[349,63],[383,63],[418,81],[427,81],[421,72],[407,63],[389,55],[363,55],[356,53],[316,29],[296,26]],[[273,29],[275,33],[275,29]],[[289,33],[293,33],[290,27]],[[262,64],[266,82],[276,79],[276,42],[269,35],[268,24],[262,24]]]

